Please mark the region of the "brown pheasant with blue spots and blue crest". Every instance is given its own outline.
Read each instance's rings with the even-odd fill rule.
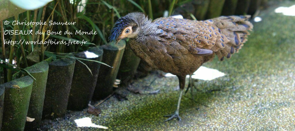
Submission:
[[[192,75],[215,56],[222,61],[237,53],[253,28],[250,17],[220,16],[204,21],[161,17],[151,20],[143,13],[132,12],[117,19],[109,41],[118,43],[129,38],[130,48],[145,64],[178,77],[180,90],[176,110],[164,117],[168,117],[165,122],[174,118],[181,121],[179,108],[186,75]]]

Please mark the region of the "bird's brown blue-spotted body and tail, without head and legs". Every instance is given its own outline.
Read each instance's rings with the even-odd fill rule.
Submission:
[[[196,71],[214,58],[230,58],[246,42],[253,25],[250,16],[218,17],[206,21],[158,18],[153,21],[160,32],[146,41],[130,39],[133,51],[153,68],[178,76]],[[140,43],[139,45],[137,43]],[[200,49],[212,50],[204,55]]]

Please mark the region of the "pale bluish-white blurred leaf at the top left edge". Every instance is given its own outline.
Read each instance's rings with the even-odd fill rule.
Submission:
[[[53,0],[9,0],[9,1],[22,9],[34,10],[42,6],[45,6],[47,3]]]

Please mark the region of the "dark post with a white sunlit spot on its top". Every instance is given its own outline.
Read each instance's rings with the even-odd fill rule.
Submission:
[[[94,47],[87,51],[75,54],[75,56],[77,58],[101,61],[102,54],[102,48]],[[68,102],[69,110],[83,110],[88,107],[99,75],[100,63],[86,60],[81,61],[89,67],[92,75],[83,63],[76,62]]]

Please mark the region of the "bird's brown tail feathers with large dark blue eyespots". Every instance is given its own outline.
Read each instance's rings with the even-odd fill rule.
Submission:
[[[248,31],[253,28],[253,24],[248,21],[250,15],[246,16],[222,16],[212,19],[213,24],[219,28],[219,32],[225,35],[230,42],[225,43],[225,48],[215,52],[220,60],[224,57],[230,58],[242,48],[250,34]]]

